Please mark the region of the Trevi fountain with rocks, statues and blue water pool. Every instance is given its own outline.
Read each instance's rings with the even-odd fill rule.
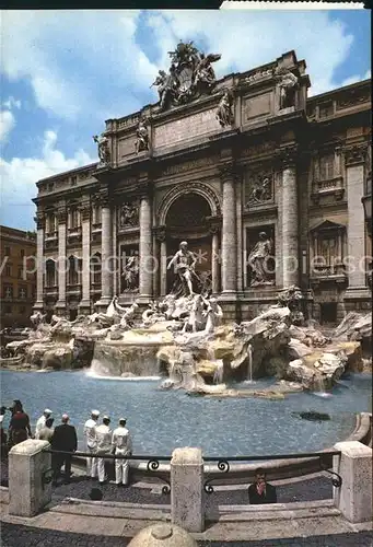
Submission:
[[[280,454],[351,433],[371,407],[370,314],[350,313],[326,335],[305,322],[293,286],[253,321],[226,323],[210,290],[196,291],[186,242],[172,265],[173,291],[144,311],[115,296],[106,313],[73,322],[35,313],[27,338],[7,346],[3,400],[20,398],[32,421],[45,406],[57,420],[69,412],[80,440],[91,407],[115,421],[125,414],[142,454]],[[328,419],[303,419],[313,412]]]

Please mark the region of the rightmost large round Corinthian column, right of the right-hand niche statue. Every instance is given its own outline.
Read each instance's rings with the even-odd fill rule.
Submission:
[[[282,162],[282,284],[299,283],[296,149],[280,152]]]

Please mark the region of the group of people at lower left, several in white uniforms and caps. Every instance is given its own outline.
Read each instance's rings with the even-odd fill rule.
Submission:
[[[5,411],[11,411],[11,419],[8,428],[8,435],[3,426]],[[53,411],[46,408],[38,418],[34,434],[31,430],[30,417],[24,411],[21,400],[13,401],[13,406],[7,409],[2,406],[0,410],[1,424],[1,454],[5,456],[8,451],[27,439],[48,441],[51,450],[53,481],[56,485],[62,475],[63,467],[65,482],[70,481],[72,455],[78,449],[77,430],[69,423],[67,414],[61,417],[61,423],[54,428]],[[110,418],[104,416],[102,423],[100,411],[92,410],[91,418],[84,423],[84,438],[86,452],[86,476],[90,479],[98,478],[101,485],[107,481],[108,454],[116,456],[130,456],[132,454],[131,435],[126,428],[126,419],[120,418],[118,427],[110,429]],[[115,482],[120,486],[129,484],[129,462],[126,458],[115,459]]]

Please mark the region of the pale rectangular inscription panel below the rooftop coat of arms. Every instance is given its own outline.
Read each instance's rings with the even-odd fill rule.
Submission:
[[[221,127],[215,118],[215,108],[210,108],[155,127],[154,147],[172,146],[219,130]]]

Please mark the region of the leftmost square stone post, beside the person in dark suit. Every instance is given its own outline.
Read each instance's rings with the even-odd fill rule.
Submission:
[[[50,454],[43,452],[47,441],[28,439],[9,452],[9,514],[34,516],[51,500],[51,482],[43,480],[50,473]]]

